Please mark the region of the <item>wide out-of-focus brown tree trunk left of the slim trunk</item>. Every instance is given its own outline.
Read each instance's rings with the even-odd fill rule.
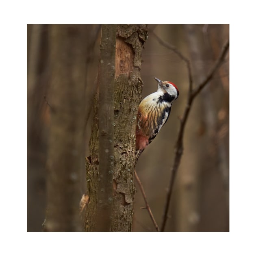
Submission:
[[[45,231],[80,231],[86,26],[50,27],[51,127]]]

